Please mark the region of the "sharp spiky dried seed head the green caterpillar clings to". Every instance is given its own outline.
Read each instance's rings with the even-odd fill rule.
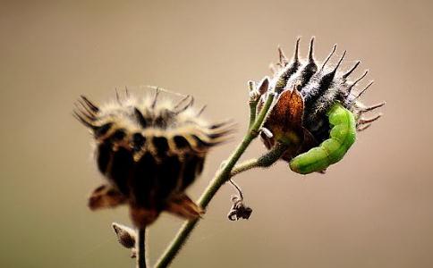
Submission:
[[[355,90],[358,82],[367,75],[368,71],[356,80],[349,80],[349,76],[361,63],[360,61],[347,71],[339,71],[345,51],[334,66],[329,66],[328,62],[335,53],[336,45],[325,61],[318,64],[314,59],[314,38],[310,40],[307,59],[300,59],[299,43],[300,38],[296,41],[291,61],[286,58],[282,49],[278,48],[279,63],[271,64],[272,78],[265,78],[257,86],[261,88],[258,113],[268,93],[277,94],[276,102],[264,124],[265,131],[261,132],[261,138],[267,148],[274,147],[276,141],[290,141],[291,147],[283,156],[286,161],[290,161],[294,156],[306,152],[311,147],[317,147],[329,138],[330,125],[327,111],[335,103],[342,104],[354,114],[358,131],[367,129],[372,121],[376,121],[381,116],[379,113],[375,117],[364,118],[363,113],[385,105],[383,102],[366,106],[359,100],[359,97],[373,83],[371,81],[365,88]]]

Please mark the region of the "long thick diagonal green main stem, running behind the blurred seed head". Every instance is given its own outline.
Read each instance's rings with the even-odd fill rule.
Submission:
[[[250,126],[250,129],[248,130],[245,137],[242,139],[241,144],[239,144],[238,147],[236,147],[233,154],[229,157],[225,165],[219,171],[216,172],[214,179],[211,180],[211,182],[208,185],[208,188],[206,188],[203,194],[201,195],[199,199],[199,205],[203,209],[206,209],[210,200],[212,200],[212,198],[216,195],[218,189],[221,188],[221,186],[223,186],[223,184],[225,184],[225,182],[230,179],[234,164],[236,164],[239,158],[241,158],[241,155],[245,152],[247,147],[250,145],[251,141],[254,138],[257,138],[257,136],[259,135],[259,130],[266,119],[267,111],[269,110],[270,106],[274,101],[274,96],[275,96],[274,93],[270,93],[269,96],[267,96],[267,101],[265,105],[263,105],[263,109],[260,111],[259,115],[257,116],[252,126]],[[197,222],[199,222],[199,220],[200,219],[194,219],[183,223],[183,226],[181,227],[181,229],[173,239],[171,245],[166,248],[166,252],[158,260],[155,267],[157,268],[167,267],[168,264],[170,264],[173,261],[175,255],[177,255],[179,250],[182,248],[186,239],[188,239],[191,231],[194,229],[195,225],[197,224]]]

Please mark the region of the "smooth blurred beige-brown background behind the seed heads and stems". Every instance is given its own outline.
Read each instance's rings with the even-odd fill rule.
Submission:
[[[236,178],[249,221],[229,222],[233,188],[208,207],[173,267],[431,267],[433,263],[433,4],[431,1],[2,1],[0,4],[0,266],[133,267],[111,222],[125,207],[91,213],[101,183],[90,136],[72,118],[128,86],[158,85],[233,118],[232,143],[208,157],[189,189],[197,198],[248,121],[248,80],[301,54],[316,36],[322,60],[337,43],[344,68],[361,59],[376,80],[364,100],[385,116],[327,174],[286,163]],[[335,58],[337,58],[335,56]],[[334,59],[335,61],[335,59]],[[364,84],[368,80],[364,80]],[[362,85],[362,84],[361,84]],[[259,142],[248,156],[259,155]],[[182,221],[149,229],[152,264]]]

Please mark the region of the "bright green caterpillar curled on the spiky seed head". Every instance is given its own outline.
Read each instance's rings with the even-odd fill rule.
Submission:
[[[330,138],[320,146],[298,155],[290,161],[293,172],[309,174],[324,171],[329,165],[343,159],[356,139],[356,121],[351,111],[340,103],[335,103],[327,112],[332,126]]]

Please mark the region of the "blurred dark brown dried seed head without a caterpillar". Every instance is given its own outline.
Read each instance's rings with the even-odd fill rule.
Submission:
[[[227,139],[232,125],[209,124],[193,98],[178,103],[155,96],[98,106],[81,96],[75,117],[89,128],[98,170],[107,183],[89,198],[92,210],[128,204],[132,222],[144,227],[162,211],[196,218],[202,214],[184,190],[200,175],[208,150]]]

